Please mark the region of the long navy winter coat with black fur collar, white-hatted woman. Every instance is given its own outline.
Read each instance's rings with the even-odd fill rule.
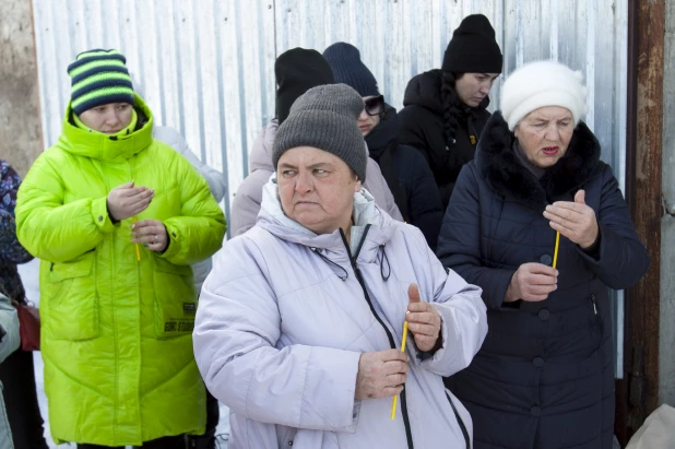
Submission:
[[[627,288],[649,258],[600,144],[581,122],[567,154],[537,180],[496,113],[462,169],[438,243],[443,264],[483,288],[488,334],[448,386],[471,412],[476,449],[611,449],[614,368],[609,288]],[[573,201],[595,211],[593,255],[560,237],[558,288],[543,302],[504,304],[516,270],[552,264],[555,232],[542,212]]]

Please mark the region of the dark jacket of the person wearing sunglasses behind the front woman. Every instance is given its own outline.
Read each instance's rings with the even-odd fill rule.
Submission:
[[[411,146],[396,140],[396,109],[387,105],[380,123],[366,135],[370,157],[394,197],[403,220],[417,226],[435,251],[443,209],[429,164]]]

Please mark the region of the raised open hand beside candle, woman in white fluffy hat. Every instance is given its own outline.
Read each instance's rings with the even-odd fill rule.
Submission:
[[[547,205],[544,217],[550,220],[550,227],[581,248],[590,248],[597,239],[595,211],[585,204],[583,190],[575,194],[575,202],[556,201]]]

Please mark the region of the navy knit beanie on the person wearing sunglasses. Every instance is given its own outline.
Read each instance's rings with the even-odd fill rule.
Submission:
[[[336,83],[353,87],[360,96],[380,95],[375,76],[360,60],[358,48],[336,43],[323,51],[323,57],[333,69]]]

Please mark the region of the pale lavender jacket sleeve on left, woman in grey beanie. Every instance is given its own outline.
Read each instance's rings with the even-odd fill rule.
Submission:
[[[246,236],[229,240],[215,258],[193,333],[206,387],[235,413],[253,421],[355,432],[360,353],[283,347],[276,296],[263,267],[261,252]]]

